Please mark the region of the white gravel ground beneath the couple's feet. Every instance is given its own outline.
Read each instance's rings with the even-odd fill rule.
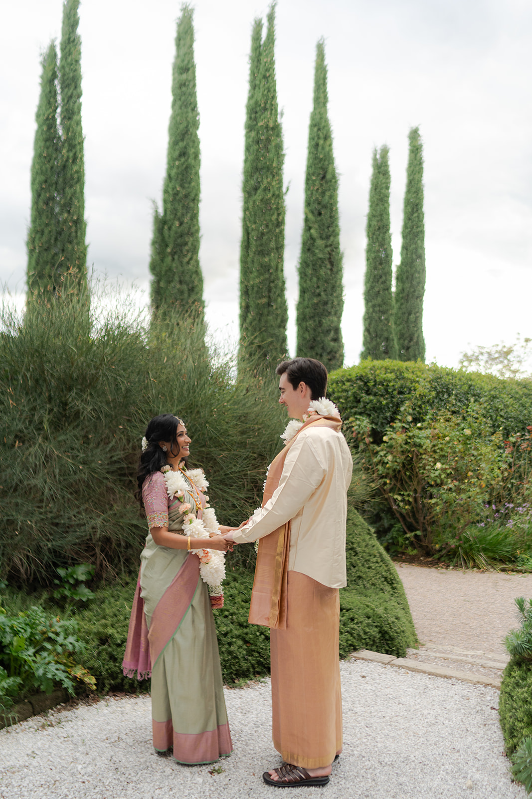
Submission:
[[[344,751],[329,785],[298,797],[525,799],[502,754],[495,689],[361,661],[342,662],[341,677]],[[278,789],[262,772],[281,761],[271,743],[269,681],[227,690],[226,700],[234,753],[215,766],[154,753],[147,696],[107,698],[4,729],[0,797],[272,799]]]

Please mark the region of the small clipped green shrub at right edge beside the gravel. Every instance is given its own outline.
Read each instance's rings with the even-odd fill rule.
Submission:
[[[532,737],[532,665],[511,658],[502,674],[499,718],[506,754],[510,757],[523,738]]]

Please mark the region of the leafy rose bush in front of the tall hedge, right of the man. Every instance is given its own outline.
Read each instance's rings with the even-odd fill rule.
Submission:
[[[380,444],[372,441],[367,419],[352,423],[368,468],[407,538],[428,554],[440,547],[448,551],[482,518],[490,491],[502,483],[502,437],[486,435],[487,425],[473,406],[463,416],[432,412],[417,424],[410,411],[407,403]]]

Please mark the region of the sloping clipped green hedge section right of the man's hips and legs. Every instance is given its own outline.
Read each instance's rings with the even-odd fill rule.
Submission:
[[[347,519],[347,587],[340,591],[340,656],[368,649],[403,658],[417,637],[396,568],[361,516]]]

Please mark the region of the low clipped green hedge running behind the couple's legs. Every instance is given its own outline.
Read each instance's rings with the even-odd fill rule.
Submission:
[[[249,547],[242,547],[249,548]],[[395,566],[368,525],[350,510],[347,529],[348,586],[340,592],[340,654],[357,649],[404,656],[416,646],[416,632]],[[77,614],[86,644],[83,665],[97,679],[97,690],[138,692],[149,684],[125,678],[121,663],[136,582],[100,588]],[[248,624],[253,574],[228,561],[225,604],[215,611],[220,660],[228,684],[270,671],[270,631]]]

